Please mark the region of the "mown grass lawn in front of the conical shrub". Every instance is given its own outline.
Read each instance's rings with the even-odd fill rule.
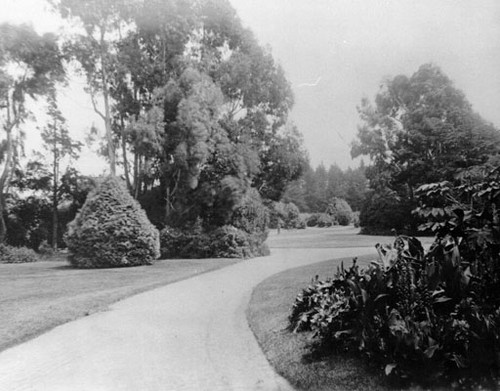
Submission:
[[[0,264],[0,351],[133,294],[236,262],[161,260],[118,269],[74,269],[61,260]]]

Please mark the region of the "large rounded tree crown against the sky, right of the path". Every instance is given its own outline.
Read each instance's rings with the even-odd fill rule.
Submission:
[[[409,208],[419,185],[453,180],[499,152],[497,129],[432,64],[384,81],[374,104],[363,99],[358,110],[362,125],[351,154],[370,157],[372,189],[395,191]]]

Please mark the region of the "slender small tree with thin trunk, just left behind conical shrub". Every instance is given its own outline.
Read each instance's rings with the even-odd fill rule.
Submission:
[[[47,115],[49,123],[42,130],[42,139],[45,142],[45,149],[52,155],[52,248],[57,250],[61,159],[66,156],[76,158],[82,143],[73,141],[69,136],[66,120],[57,107],[55,93],[49,95]]]

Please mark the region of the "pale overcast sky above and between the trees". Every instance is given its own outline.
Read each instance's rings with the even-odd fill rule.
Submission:
[[[230,1],[292,83],[292,119],[313,166],[357,165],[349,145],[361,98],[372,99],[384,77],[410,76],[428,62],[440,66],[475,110],[500,126],[500,1]],[[52,18],[40,17],[43,3],[2,0],[0,18],[53,29]],[[82,133],[93,118],[90,102],[81,101],[76,90],[63,98],[71,127]]]

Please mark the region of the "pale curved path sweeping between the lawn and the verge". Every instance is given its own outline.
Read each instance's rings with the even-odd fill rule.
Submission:
[[[373,252],[275,248],[133,296],[0,353],[0,390],[291,390],[248,327],[252,289],[289,268]]]

